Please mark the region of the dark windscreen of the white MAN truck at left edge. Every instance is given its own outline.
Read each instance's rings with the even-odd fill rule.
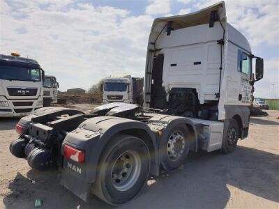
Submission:
[[[40,82],[40,69],[0,65],[0,79]]]

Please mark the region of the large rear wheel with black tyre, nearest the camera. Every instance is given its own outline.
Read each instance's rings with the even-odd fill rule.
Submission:
[[[116,134],[100,157],[91,192],[113,206],[137,196],[150,170],[149,148],[142,139]]]

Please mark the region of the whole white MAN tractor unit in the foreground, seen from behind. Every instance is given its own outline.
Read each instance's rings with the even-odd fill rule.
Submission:
[[[227,23],[223,1],[158,18],[148,42],[144,107],[38,109],[17,123],[20,137],[10,151],[33,169],[58,168],[61,184],[85,201],[93,193],[121,205],[150,173],[179,168],[189,150],[232,153],[247,137],[253,58],[262,79],[263,59]]]

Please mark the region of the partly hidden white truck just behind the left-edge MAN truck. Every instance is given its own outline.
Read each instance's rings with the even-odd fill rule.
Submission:
[[[53,75],[45,75],[43,82],[43,107],[57,103],[59,83]]]

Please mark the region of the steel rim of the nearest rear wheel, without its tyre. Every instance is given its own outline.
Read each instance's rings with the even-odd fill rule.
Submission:
[[[119,191],[127,191],[140,176],[141,159],[140,155],[128,150],[117,157],[112,167],[112,185]]]

